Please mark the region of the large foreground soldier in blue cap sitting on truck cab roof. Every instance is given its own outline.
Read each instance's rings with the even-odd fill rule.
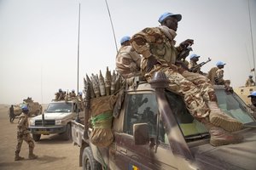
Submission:
[[[145,28],[131,38],[132,47],[138,54],[143,54],[143,77],[150,82],[154,72],[164,72],[170,81],[170,90],[183,95],[191,115],[209,129],[212,145],[241,142],[242,136],[231,132],[241,129],[242,123],[227,116],[218,108],[217,97],[209,80],[193,83],[189,78],[183,77],[182,74],[186,70],[174,65],[177,64],[177,55],[193,44],[193,40],[188,39],[175,47],[177,22],[181,19],[181,14],[162,14],[159,19],[160,27]]]

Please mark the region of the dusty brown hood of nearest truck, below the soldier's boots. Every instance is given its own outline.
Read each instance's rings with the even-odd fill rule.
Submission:
[[[255,169],[256,128],[247,127],[239,132],[244,140],[240,144],[214,147],[202,144],[190,148],[201,169]]]

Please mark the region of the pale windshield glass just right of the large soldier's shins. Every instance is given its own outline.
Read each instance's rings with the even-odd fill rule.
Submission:
[[[215,89],[218,99],[218,107],[227,115],[236,118],[236,120],[247,123],[253,122],[253,118],[249,116],[246,104],[235,93],[230,93],[224,89]]]

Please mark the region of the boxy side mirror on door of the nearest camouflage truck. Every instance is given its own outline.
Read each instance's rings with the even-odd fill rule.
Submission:
[[[133,139],[135,144],[148,144],[149,142],[148,123],[136,123],[133,125]]]

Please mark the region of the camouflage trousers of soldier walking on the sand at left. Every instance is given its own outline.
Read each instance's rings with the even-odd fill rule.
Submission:
[[[20,134],[18,132],[17,133],[17,140],[18,140],[18,144],[16,145],[16,150],[15,150],[15,153],[17,153],[17,154],[20,153],[20,149],[21,149],[21,145],[23,143],[23,140],[25,140],[26,143],[28,144],[29,150],[33,150],[34,147],[35,147],[34,141],[32,139],[32,136],[30,135],[30,133]]]

